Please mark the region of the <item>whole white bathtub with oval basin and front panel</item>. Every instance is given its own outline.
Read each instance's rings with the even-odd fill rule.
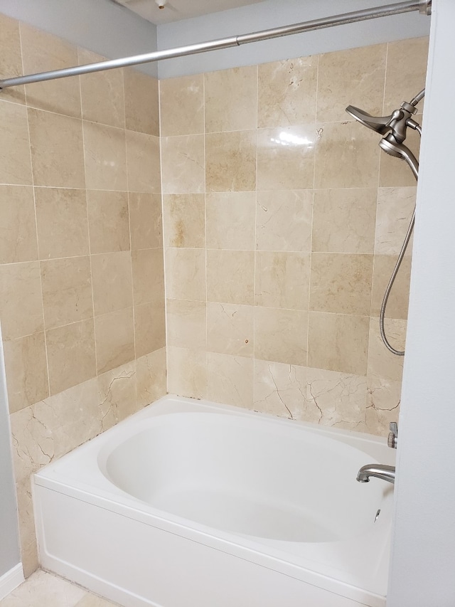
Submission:
[[[125,607],[384,607],[385,440],[166,396],[34,476],[41,565]]]

